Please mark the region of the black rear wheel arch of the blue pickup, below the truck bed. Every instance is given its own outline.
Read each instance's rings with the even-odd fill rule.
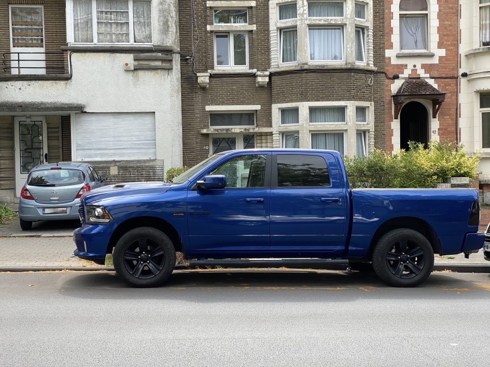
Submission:
[[[374,247],[378,243],[379,239],[393,229],[407,228],[413,229],[422,235],[429,241],[434,253],[440,254],[442,252],[442,247],[440,244],[440,240],[437,237],[437,233],[434,228],[427,223],[425,220],[415,217],[397,217],[388,219],[386,222],[381,224],[371,239],[371,243],[369,245],[369,253],[368,257],[371,258],[373,255]]]

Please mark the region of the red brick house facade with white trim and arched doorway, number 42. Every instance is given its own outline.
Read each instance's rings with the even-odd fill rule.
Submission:
[[[386,0],[386,149],[459,141],[458,2]]]

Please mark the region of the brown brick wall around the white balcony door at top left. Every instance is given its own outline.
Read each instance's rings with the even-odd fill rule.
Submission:
[[[64,0],[0,0],[0,54],[10,52],[9,4],[35,4],[44,8],[44,47],[46,53],[59,52],[66,46],[66,18]],[[0,55],[1,57],[2,55]],[[63,59],[63,61],[58,61]],[[2,65],[2,60],[0,60]],[[46,73],[67,72],[66,52],[61,55],[47,54],[46,67],[63,67],[62,70],[47,69]],[[6,71],[10,74],[10,70]],[[0,73],[4,73],[0,67]]]

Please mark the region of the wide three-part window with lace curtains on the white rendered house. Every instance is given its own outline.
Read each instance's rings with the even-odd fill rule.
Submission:
[[[75,43],[152,43],[150,0],[72,0]]]

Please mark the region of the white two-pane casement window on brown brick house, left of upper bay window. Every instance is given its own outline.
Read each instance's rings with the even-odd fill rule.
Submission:
[[[248,65],[247,33],[214,34],[214,65],[216,68],[244,69]]]

